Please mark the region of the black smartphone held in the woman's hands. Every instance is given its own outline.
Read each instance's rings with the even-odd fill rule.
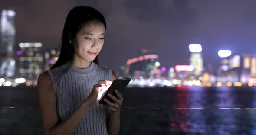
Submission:
[[[110,102],[114,102],[110,97],[108,97],[108,94],[112,94],[116,98],[117,95],[115,94],[115,90],[118,90],[119,93],[122,93],[125,90],[125,87],[129,84],[131,81],[130,78],[124,78],[124,79],[116,79],[112,82],[108,90],[106,90],[105,94],[102,96],[101,100],[99,101],[99,104],[105,104],[104,99],[107,99]]]

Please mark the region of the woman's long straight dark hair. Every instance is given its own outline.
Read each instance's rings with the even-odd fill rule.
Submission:
[[[86,23],[93,20],[103,23],[105,29],[107,28],[104,16],[92,7],[76,6],[69,11],[62,32],[62,43],[59,58],[51,69],[59,67],[71,60],[74,54],[74,46],[69,42],[70,39],[75,38],[76,33],[79,32]],[[98,55],[93,62],[98,64]]]

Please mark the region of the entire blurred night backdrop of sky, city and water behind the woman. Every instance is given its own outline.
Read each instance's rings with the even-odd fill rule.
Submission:
[[[0,134],[43,134],[37,78],[58,59],[67,13],[83,5],[106,19],[100,65],[132,79],[121,135],[256,135],[255,4],[1,0]]]

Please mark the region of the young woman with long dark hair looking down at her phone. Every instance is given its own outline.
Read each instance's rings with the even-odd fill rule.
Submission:
[[[58,61],[38,78],[39,104],[46,135],[118,135],[123,97],[98,100],[116,74],[98,66],[104,43],[104,16],[92,7],[73,8],[64,24]]]

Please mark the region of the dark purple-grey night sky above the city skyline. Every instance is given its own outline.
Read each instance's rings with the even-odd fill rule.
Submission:
[[[43,50],[60,45],[66,15],[78,5],[105,16],[100,63],[116,72],[141,48],[167,68],[189,64],[190,43],[202,45],[205,64],[217,65],[220,49],[256,54],[255,0],[0,0],[0,10],[16,11],[16,45],[42,42]]]

